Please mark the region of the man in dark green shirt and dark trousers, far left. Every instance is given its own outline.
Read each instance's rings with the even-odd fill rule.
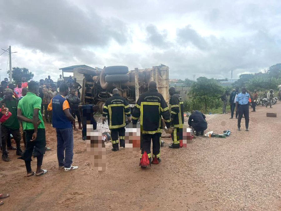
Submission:
[[[19,121],[17,119],[17,103],[18,99],[13,98],[13,91],[12,89],[5,89],[4,90],[4,99],[0,101],[0,108],[4,106],[5,108],[8,108],[9,111],[12,113],[12,116],[7,119],[6,122],[2,123],[1,127],[1,133],[2,133],[2,159],[4,161],[10,161],[10,158],[8,157],[8,153],[6,150],[7,145],[7,137],[12,134],[14,137],[16,144],[17,144],[17,155],[22,155],[22,150],[20,146],[21,142],[21,133],[20,133],[20,126]]]

